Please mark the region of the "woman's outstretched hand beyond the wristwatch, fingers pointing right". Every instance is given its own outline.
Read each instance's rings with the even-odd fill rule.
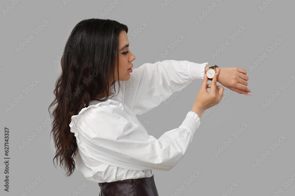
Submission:
[[[238,67],[222,67],[215,69],[220,69],[217,82],[226,88],[246,95],[251,92],[250,88],[247,87],[249,76],[246,75],[247,71],[245,69]]]

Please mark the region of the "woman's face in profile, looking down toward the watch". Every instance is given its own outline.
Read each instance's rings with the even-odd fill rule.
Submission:
[[[126,81],[130,78],[130,69],[135,60],[135,56],[129,50],[129,40],[126,31],[121,31],[119,34],[119,80]],[[115,69],[115,78],[118,80],[117,69]]]

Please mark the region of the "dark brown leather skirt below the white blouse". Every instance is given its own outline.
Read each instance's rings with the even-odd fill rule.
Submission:
[[[152,177],[98,183],[99,196],[159,196]]]

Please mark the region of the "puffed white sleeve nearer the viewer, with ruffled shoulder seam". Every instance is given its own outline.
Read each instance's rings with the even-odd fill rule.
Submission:
[[[115,100],[83,108],[72,117],[79,150],[86,164],[106,163],[128,170],[170,170],[185,154],[200,118],[189,111],[182,124],[159,139],[148,135],[135,116]]]

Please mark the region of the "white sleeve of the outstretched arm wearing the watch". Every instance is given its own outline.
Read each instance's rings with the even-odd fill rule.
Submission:
[[[124,104],[132,112],[143,114],[180,91],[193,80],[204,79],[207,63],[165,60],[145,63],[133,69],[130,79],[122,81]],[[196,91],[197,93],[197,91]]]

